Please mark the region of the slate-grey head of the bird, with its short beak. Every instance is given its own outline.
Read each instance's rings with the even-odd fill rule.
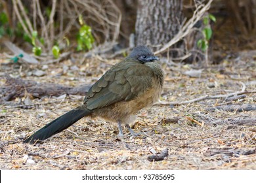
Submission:
[[[133,51],[127,58],[137,59],[142,64],[149,61],[159,60],[159,58],[154,56],[153,52],[146,46],[137,46],[133,48]]]

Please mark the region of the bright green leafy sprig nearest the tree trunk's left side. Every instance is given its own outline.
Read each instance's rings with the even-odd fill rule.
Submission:
[[[77,35],[77,51],[91,50],[95,39],[91,33],[91,27],[83,23],[83,19],[79,16],[79,24],[81,25]]]

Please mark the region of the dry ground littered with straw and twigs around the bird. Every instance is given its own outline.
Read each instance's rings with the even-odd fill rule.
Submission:
[[[117,139],[116,124],[83,118],[42,144],[23,144],[24,137],[80,105],[83,96],[24,97],[15,100],[22,104],[19,107],[1,105],[0,169],[256,169],[256,110],[216,109],[255,105],[256,93],[231,101],[219,98],[169,105],[204,95],[240,92],[242,88],[255,90],[255,56],[256,52],[239,52],[235,58],[227,57],[223,63],[203,69],[198,78],[184,75],[196,69],[194,65],[163,64],[166,76],[161,103],[139,112],[133,124],[135,131],[142,132],[139,137],[131,137],[125,129],[125,139]],[[69,59],[47,68],[7,64],[1,67],[1,86],[6,73],[66,86],[93,84],[117,61]],[[44,69],[45,75],[28,74],[36,69]],[[29,101],[29,109],[24,108],[24,101]],[[148,161],[148,156],[165,148],[169,156]]]

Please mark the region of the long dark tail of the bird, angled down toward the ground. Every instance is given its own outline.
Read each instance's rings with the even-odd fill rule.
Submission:
[[[72,124],[74,124],[84,116],[91,114],[92,112],[92,110],[89,110],[83,106],[70,110],[70,112],[63,114],[62,116],[53,120],[53,122],[39,129],[24,142],[34,144],[35,142],[48,139],[52,135],[60,133],[60,131],[63,131],[64,129],[70,127]]]

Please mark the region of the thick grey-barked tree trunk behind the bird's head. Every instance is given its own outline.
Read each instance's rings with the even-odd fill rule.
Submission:
[[[179,31],[182,18],[182,0],[139,0],[136,44],[157,50]]]

